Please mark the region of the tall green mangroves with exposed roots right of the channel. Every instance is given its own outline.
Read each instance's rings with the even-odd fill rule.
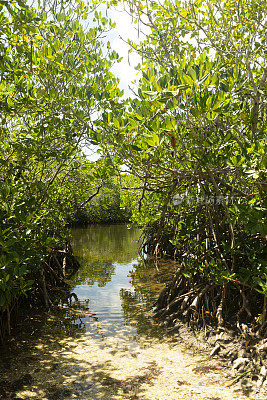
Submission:
[[[266,2],[130,3],[150,30],[130,42],[138,98],[102,127],[142,181],[145,251],[181,262],[155,316],[264,334]]]

